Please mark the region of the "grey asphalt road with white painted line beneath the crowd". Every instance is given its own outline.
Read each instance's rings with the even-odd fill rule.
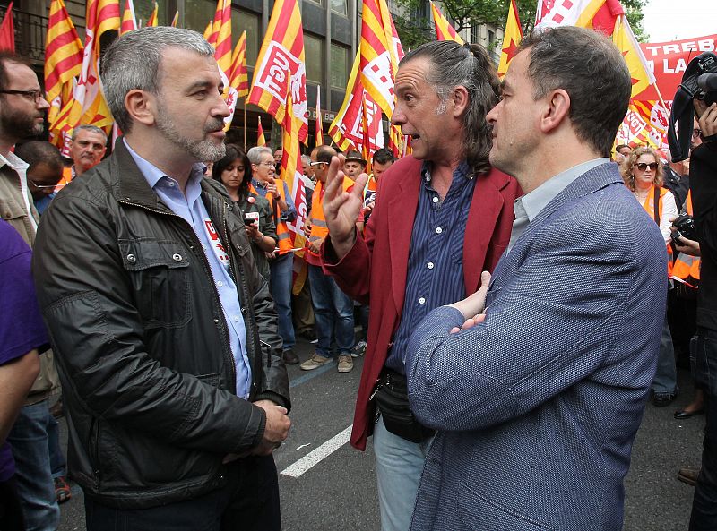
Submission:
[[[298,340],[307,359],[313,346]],[[351,373],[338,373],[335,362],[304,372],[289,366],[292,429],[274,453],[280,472],[284,531],[378,531],[378,500],[373,451],[354,450],[348,441],[363,357]],[[693,487],[678,482],[679,467],[698,467],[704,416],[677,421],[673,414],[692,395],[687,371],[679,372],[680,395],[669,407],[645,410],[626,477],[625,531],[687,529]],[[66,444],[63,419],[62,441]],[[60,506],[59,531],[84,531],[82,491]],[[491,531],[489,529],[485,531]],[[581,531],[581,530],[575,530]]]

